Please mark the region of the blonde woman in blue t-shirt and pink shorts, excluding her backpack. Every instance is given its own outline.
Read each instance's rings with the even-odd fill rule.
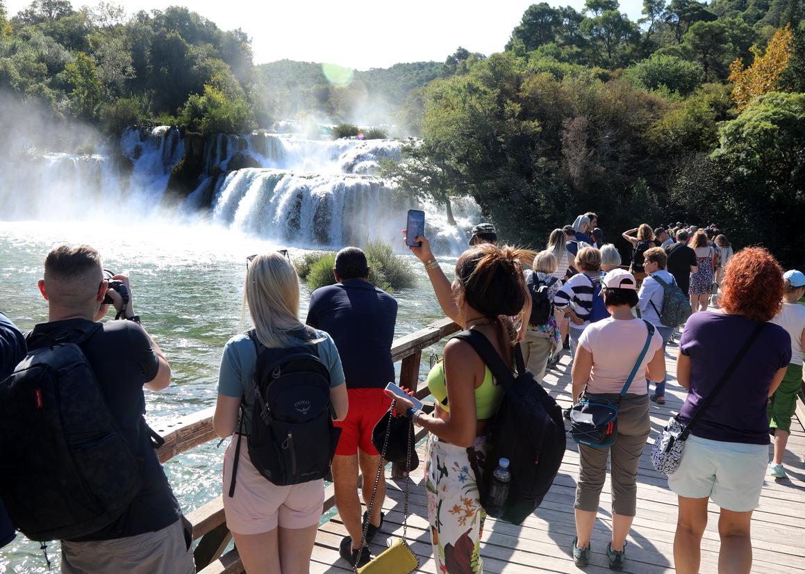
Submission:
[[[254,404],[252,378],[262,351],[292,349],[315,353],[329,372],[330,401],[336,420],[347,414],[348,399],[341,358],[330,336],[299,321],[299,279],[287,257],[279,253],[247,259],[246,297],[254,323],[249,333],[235,335],[224,347],[218,375],[218,399],[213,428],[218,436],[233,436],[243,403],[243,434],[251,428]],[[265,347],[265,349],[262,349]],[[324,504],[324,481],[278,486],[252,465],[248,448],[240,448],[236,488],[233,481],[236,440],[224,455],[224,512],[243,567],[248,574],[280,572],[306,574]],[[244,445],[246,446],[246,445]]]

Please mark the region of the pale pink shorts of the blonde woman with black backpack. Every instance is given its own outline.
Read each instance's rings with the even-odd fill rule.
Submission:
[[[258,473],[249,458],[246,436],[241,442],[235,493],[229,497],[237,435],[224,454],[224,514],[230,531],[241,535],[262,534],[276,527],[296,530],[317,525],[324,510],[324,481],[277,486]]]

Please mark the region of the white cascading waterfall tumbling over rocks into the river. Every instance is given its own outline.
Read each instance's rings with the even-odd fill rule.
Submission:
[[[477,221],[477,205],[454,202],[458,225],[448,225],[444,209],[414,200],[377,176],[383,160],[399,158],[402,145],[264,132],[202,140],[169,126],[132,127],[101,154],[27,151],[16,161],[0,160],[0,217],[64,220],[115,211],[141,221],[180,216],[294,246],[336,247],[374,238],[398,244],[407,209],[424,209],[439,252],[459,252],[466,229]],[[190,188],[195,185],[195,191],[184,192],[178,207],[163,202],[171,174],[187,167],[192,154],[198,163]]]

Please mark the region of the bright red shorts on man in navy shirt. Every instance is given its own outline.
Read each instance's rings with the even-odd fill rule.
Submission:
[[[347,418],[335,423],[342,429],[336,455],[355,455],[359,447],[366,454],[380,454],[372,444],[372,431],[389,410],[391,399],[386,396],[385,389],[347,389],[347,396]]]

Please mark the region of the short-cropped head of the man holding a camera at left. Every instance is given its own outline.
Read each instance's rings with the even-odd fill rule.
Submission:
[[[53,308],[89,313],[92,316],[102,300],[101,255],[88,245],[60,245],[45,258],[45,276],[40,282],[43,295]]]

